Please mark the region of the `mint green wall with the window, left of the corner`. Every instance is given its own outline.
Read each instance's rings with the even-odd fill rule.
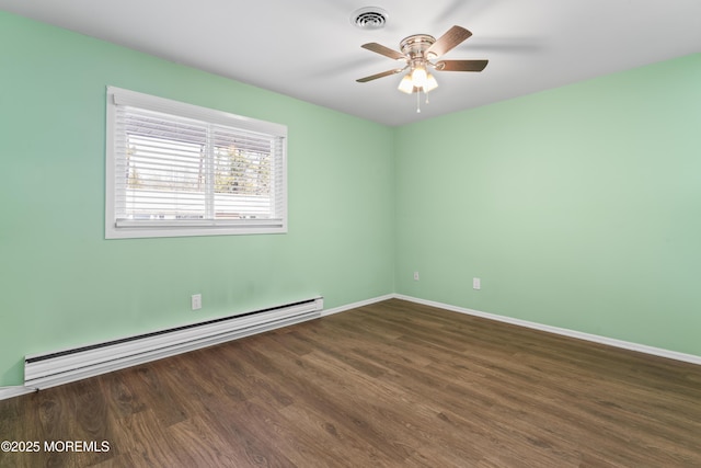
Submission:
[[[289,232],[105,240],[107,84],[286,124]],[[391,128],[0,12],[0,386],[25,354],[392,293],[392,155]]]

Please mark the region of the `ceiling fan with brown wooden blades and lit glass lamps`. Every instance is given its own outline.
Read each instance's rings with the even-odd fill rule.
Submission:
[[[489,60],[439,60],[453,47],[466,41],[472,35],[471,32],[460,26],[452,26],[443,36],[436,39],[428,34],[414,34],[405,37],[400,42],[401,52],[384,47],[378,43],[364,44],[361,47],[377,54],[403,61],[404,66],[393,70],[383,71],[381,73],[371,75],[369,77],[359,78],[356,81],[366,83],[377,80],[378,78],[389,77],[391,75],[401,73],[410,70],[402,78],[399,90],[407,94],[423,91],[427,93],[438,87],[438,82],[428,69],[437,71],[482,71]]]

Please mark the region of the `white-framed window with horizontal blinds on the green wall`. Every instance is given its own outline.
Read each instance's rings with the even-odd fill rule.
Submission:
[[[287,231],[287,127],[107,88],[105,237]]]

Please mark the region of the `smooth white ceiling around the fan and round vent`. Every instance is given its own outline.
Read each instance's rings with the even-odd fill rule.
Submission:
[[[361,7],[380,31],[350,22]],[[701,52],[701,0],[0,0],[0,9],[387,125],[402,125]],[[473,36],[446,59],[490,60],[481,73],[436,72],[416,113],[397,67],[360,48],[405,36]]]

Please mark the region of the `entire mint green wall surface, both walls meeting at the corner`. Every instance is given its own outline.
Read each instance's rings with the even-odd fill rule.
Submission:
[[[25,354],[310,295],[701,355],[699,83],[697,54],[389,128],[0,12],[0,386]],[[107,84],[288,125],[289,232],[105,240]]]

